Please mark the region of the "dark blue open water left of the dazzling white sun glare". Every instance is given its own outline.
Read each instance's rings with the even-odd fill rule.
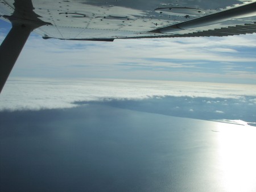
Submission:
[[[228,189],[218,138],[229,124],[96,103],[0,117],[1,191]]]

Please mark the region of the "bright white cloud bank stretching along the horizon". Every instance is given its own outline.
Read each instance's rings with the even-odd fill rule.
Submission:
[[[200,82],[10,78],[0,95],[0,110],[74,107],[75,101],[105,98],[144,99],[154,96],[208,98],[256,97],[256,85]],[[254,104],[253,102],[251,102]]]

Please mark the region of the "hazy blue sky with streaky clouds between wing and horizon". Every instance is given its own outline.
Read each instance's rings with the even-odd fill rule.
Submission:
[[[0,21],[0,41],[10,24]],[[126,78],[256,83],[255,35],[114,42],[48,39],[32,33],[10,77]]]

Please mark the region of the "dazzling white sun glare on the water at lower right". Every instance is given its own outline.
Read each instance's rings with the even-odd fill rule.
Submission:
[[[255,191],[255,127],[221,123],[218,130],[220,173],[225,191]]]

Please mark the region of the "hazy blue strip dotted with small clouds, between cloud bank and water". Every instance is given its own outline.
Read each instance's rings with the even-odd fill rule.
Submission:
[[[207,97],[152,97],[148,99],[105,99],[103,101],[75,104],[101,103],[117,108],[151,112],[162,115],[184,118],[217,120],[241,119],[245,122],[255,122],[255,97],[241,98],[207,98]],[[253,125],[253,124],[251,124]]]

